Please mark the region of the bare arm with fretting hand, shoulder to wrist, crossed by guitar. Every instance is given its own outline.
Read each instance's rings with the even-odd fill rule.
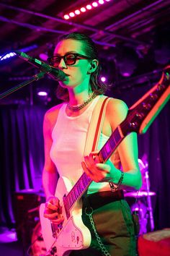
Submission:
[[[123,101],[111,100],[107,108],[107,116],[114,116],[109,118],[112,131],[125,119],[128,114],[128,107]],[[133,189],[140,189],[142,179],[140,169],[138,166],[138,140],[137,134],[131,132],[126,136],[117,148],[122,163],[122,170],[124,177],[122,184]]]

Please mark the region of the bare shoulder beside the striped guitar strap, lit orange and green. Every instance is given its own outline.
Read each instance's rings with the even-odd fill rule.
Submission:
[[[128,106],[118,98],[110,98],[106,108],[106,118],[112,128],[116,128],[127,116]]]

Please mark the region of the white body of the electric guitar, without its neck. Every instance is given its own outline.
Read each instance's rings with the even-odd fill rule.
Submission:
[[[63,197],[68,194],[72,188],[71,183],[66,178],[58,180],[57,195],[62,206],[62,215],[64,221],[62,226],[52,224],[48,218],[45,218],[45,203],[40,205],[40,223],[42,226],[42,236],[45,247],[49,252],[55,252],[56,256],[67,256],[73,249],[86,249],[91,243],[91,234],[84,225],[82,214],[82,202],[78,200],[70,211],[70,217],[67,218],[66,210],[63,204]],[[53,237],[55,234],[55,237]]]

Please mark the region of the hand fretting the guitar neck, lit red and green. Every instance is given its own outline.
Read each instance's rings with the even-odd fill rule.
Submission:
[[[99,156],[95,152],[86,155],[81,166],[94,182],[117,182],[117,168],[110,160],[100,163]]]

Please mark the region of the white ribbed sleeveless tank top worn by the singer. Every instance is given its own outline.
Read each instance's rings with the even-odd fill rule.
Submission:
[[[58,174],[69,179],[72,185],[83,174],[81,162],[84,161],[86,135],[94,107],[99,97],[100,95],[94,98],[82,114],[74,117],[67,116],[66,103],[63,103],[59,110],[55,127],[53,128],[53,144],[50,149],[50,158],[55,163]],[[101,149],[108,138],[106,135],[101,134],[97,148]],[[88,193],[105,190],[106,188],[109,189],[108,182],[92,182],[89,186]]]

